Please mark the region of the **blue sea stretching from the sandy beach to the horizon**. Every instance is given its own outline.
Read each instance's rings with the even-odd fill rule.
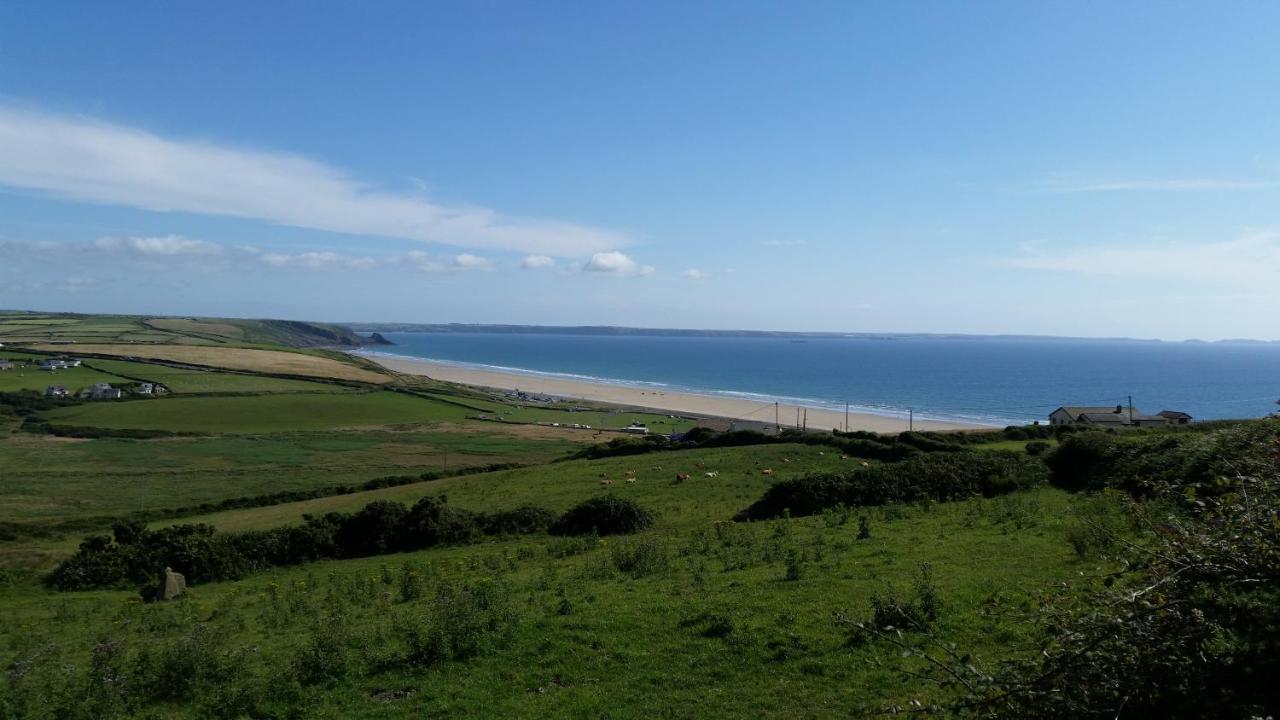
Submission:
[[[1062,405],[1280,410],[1280,343],[966,336],[383,333],[379,355],[572,380],[983,425]]]

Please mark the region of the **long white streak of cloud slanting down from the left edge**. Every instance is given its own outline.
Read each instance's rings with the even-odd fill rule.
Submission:
[[[105,205],[558,256],[628,241],[573,223],[508,219],[485,208],[380,191],[300,155],[3,106],[0,184]]]

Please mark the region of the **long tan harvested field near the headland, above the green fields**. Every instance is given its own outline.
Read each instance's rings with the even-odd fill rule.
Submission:
[[[68,351],[65,346],[33,345],[36,350]],[[196,347],[183,345],[96,345],[77,343],[76,352],[169,360],[209,368],[228,368],[255,373],[334,378],[362,383],[385,383],[390,375],[375,373],[332,357],[282,350],[246,347]]]

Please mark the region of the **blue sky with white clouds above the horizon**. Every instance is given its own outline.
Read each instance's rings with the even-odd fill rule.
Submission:
[[[1276,27],[9,3],[0,307],[1276,340]]]

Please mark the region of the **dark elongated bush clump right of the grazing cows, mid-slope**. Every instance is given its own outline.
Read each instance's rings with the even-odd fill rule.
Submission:
[[[1016,452],[929,454],[902,462],[774,483],[735,520],[817,515],[828,507],[993,497],[1046,482],[1044,465]]]

